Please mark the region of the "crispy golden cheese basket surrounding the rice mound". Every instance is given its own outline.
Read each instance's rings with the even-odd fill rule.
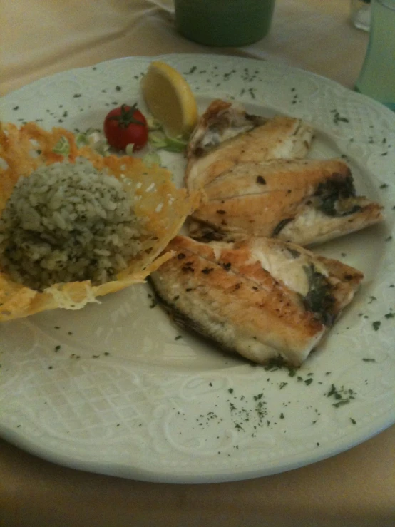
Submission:
[[[175,188],[168,170],[158,166],[148,168],[138,158],[118,158],[115,155],[103,158],[86,146],[77,148],[73,133],[63,128],[53,128],[49,132],[36,123],[26,123],[21,128],[1,123],[0,158],[6,163],[6,168],[0,168],[0,213],[20,176],[29,177],[40,165],[65,159],[63,155],[53,153],[53,147],[61,137],[68,140],[68,160],[71,162],[83,156],[91,160],[98,170],[107,168],[116,178],[127,178],[135,193],[135,213],[147,220],[145,230],[149,234],[141,240],[144,250],[126,270],[118,274],[117,280],[98,286],[91,285],[90,281],[71,282],[37,292],[15,283],[0,269],[0,321],[56,307],[79,309],[88,302],[97,302],[98,296],[144,282],[150,272],[171,256],[170,252],[160,253],[177,234],[197,200],[196,195],[190,197],[186,190]]]

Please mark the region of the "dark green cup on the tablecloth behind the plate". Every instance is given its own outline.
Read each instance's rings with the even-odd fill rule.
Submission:
[[[245,46],[270,29],[275,0],[175,0],[175,27],[206,46]]]

